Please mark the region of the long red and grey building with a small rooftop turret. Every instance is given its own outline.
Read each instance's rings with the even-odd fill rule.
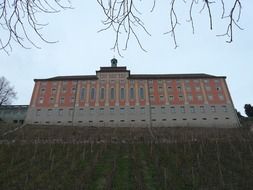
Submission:
[[[237,127],[226,77],[130,74],[101,67],[96,75],[35,79],[26,123],[111,127]]]

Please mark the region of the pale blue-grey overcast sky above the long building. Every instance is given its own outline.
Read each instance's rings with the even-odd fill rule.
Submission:
[[[29,104],[35,78],[95,74],[100,66],[109,66],[114,56],[118,64],[127,66],[131,73],[207,73],[227,76],[235,107],[244,113],[244,104],[253,104],[252,1],[242,1],[240,26],[244,30],[234,29],[232,44],[226,43],[224,37],[216,37],[226,31],[224,23],[227,21],[215,21],[214,30],[210,31],[206,12],[199,14],[201,7],[195,8],[193,35],[191,25],[186,21],[188,11],[184,9],[186,6],[182,1],[177,5],[180,17],[176,31],[177,49],[174,49],[170,35],[163,35],[169,30],[168,1],[157,1],[152,13],[152,3],[140,3],[145,26],[152,36],[140,31],[140,40],[147,52],[143,52],[131,39],[127,51],[122,51],[124,58],[111,50],[115,37],[111,30],[97,32],[103,27],[101,20],[104,15],[96,1],[75,0],[72,1],[72,10],[41,16],[41,20],[49,23],[43,35],[48,40],[59,40],[58,43],[38,41],[42,49],[26,50],[13,45],[10,55],[0,52],[0,76],[5,76],[18,93],[13,104]],[[217,18],[220,16],[221,10]]]

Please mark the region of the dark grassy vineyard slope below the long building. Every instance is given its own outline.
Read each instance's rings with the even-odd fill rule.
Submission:
[[[5,190],[253,187],[245,129],[26,126],[0,142]]]

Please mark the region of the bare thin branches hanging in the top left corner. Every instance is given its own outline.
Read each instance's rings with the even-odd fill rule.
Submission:
[[[0,50],[8,53],[12,50],[12,41],[23,48],[30,45],[40,48],[34,42],[34,36],[46,43],[48,41],[41,30],[47,24],[39,21],[40,13],[58,13],[61,9],[70,8],[68,1],[65,6],[61,0],[0,0]]]

